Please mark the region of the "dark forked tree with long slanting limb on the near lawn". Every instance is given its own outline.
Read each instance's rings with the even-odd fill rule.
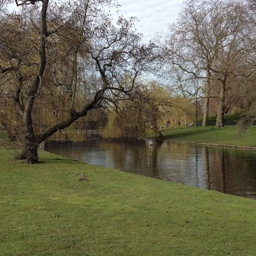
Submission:
[[[112,0],[16,3],[22,13],[5,14],[0,27],[1,96],[12,99],[20,115],[20,158],[36,163],[46,138],[134,90],[153,50],[140,45],[134,20],[112,25],[102,9]],[[55,122],[41,120],[42,108]]]

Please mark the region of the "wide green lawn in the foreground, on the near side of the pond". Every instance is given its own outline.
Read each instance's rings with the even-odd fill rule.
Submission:
[[[0,155],[0,255],[255,254],[254,200],[45,152],[35,166]]]

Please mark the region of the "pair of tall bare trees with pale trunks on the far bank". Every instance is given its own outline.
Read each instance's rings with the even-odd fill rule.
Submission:
[[[170,26],[165,50],[172,65],[205,83],[202,126],[207,125],[210,98],[219,99],[217,126],[223,126],[226,90],[230,88],[226,82],[238,75],[234,69],[246,55],[242,47],[249,34],[246,6],[241,1],[222,0],[185,4],[178,22]],[[217,84],[220,90],[214,95]]]

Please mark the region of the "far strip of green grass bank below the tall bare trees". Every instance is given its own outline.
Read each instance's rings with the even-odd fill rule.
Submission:
[[[163,130],[165,139],[183,142],[202,142],[231,146],[256,146],[256,126],[251,126],[240,134],[238,126],[225,128],[188,127]]]

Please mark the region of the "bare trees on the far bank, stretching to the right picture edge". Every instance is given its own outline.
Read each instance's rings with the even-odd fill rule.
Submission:
[[[204,100],[202,126],[209,114],[223,127],[224,114],[255,111],[255,11],[255,1],[185,1],[160,42],[170,81]]]

